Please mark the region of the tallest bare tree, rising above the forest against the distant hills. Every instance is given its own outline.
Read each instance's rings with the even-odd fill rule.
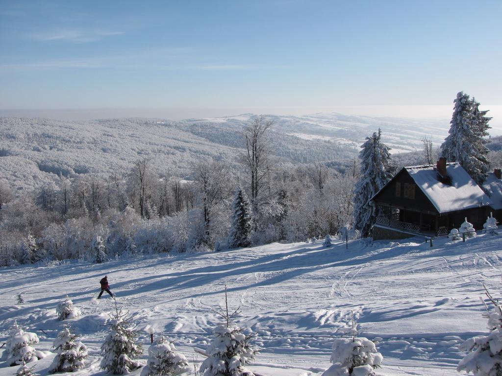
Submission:
[[[251,201],[256,207],[260,191],[267,182],[269,169],[269,149],[267,145],[267,130],[273,125],[272,120],[260,116],[249,124],[244,130],[246,151],[242,162],[249,168],[251,175]]]

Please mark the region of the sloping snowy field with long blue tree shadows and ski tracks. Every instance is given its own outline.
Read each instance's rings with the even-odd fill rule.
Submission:
[[[502,242],[479,236],[466,243],[413,241],[272,244],[221,253],[159,255],[100,265],[5,268],[0,271],[0,341],[15,320],[36,332],[36,349],[50,350],[62,328],[55,308],[66,295],[83,316],[71,325],[90,356],[75,374],[104,374],[99,347],[113,300],[95,300],[105,274],[119,306],[134,315],[140,340],[147,325],[192,361],[219,321],[211,308],[240,306],[239,323],[258,333],[262,348],[250,369],[267,376],[319,376],[329,366],[333,338],[357,319],[360,335],[378,341],[385,375],[453,375],[463,339],[487,332],[482,283],[500,294]],[[22,292],[24,304],[16,304]],[[3,350],[0,350],[3,351]],[[145,351],[146,354],[146,351]],[[53,355],[35,370],[45,375]],[[0,376],[17,367],[0,363]],[[135,371],[133,374],[140,374]]]

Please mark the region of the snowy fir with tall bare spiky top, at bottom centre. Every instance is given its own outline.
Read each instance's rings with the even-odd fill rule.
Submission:
[[[239,311],[236,309],[233,313],[228,313],[226,286],[225,308],[214,312],[220,315],[224,322],[214,331],[215,338],[207,350],[208,357],[200,366],[201,376],[255,376],[252,371],[245,369],[245,366],[255,360],[258,352],[251,344],[256,334],[245,334],[244,328],[231,322]]]

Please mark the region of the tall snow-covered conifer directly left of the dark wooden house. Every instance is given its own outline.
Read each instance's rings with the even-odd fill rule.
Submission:
[[[371,137],[366,137],[359,153],[361,177],[354,190],[354,227],[363,238],[369,236],[371,226],[380,214],[369,199],[387,184],[396,169],[391,161],[390,148],[381,141],[381,135],[379,129]]]

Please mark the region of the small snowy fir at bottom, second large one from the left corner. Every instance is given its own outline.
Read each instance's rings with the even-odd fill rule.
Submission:
[[[75,341],[77,338],[78,335],[72,333],[69,326],[59,332],[53,343],[58,354],[49,367],[51,373],[73,372],[85,366],[87,348],[82,342]]]

